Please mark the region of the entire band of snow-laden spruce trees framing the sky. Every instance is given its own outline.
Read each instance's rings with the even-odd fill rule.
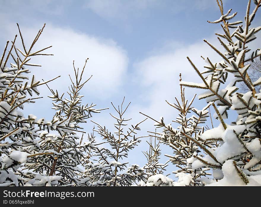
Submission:
[[[224,48],[219,51],[204,40],[220,56],[219,62],[209,57],[204,70],[200,71],[190,60],[192,67],[202,80],[200,83],[184,82],[180,74],[181,100],[170,106],[178,110],[173,121],[175,128],[165,123],[163,117],[154,120],[160,133],[149,132],[149,136],[137,136],[139,125],[128,125],[131,119],[124,117],[130,103],[112,107],[116,132],[93,122],[87,142],[83,123],[103,109],[94,109],[95,104],[82,103],[81,89],[89,80],[82,80],[82,70],[75,68],[69,90],[58,93],[47,83],[55,80],[37,81],[28,73],[40,65],[31,63],[36,55],[48,48],[34,51],[34,45],[42,35],[45,25],[38,31],[29,48],[26,47],[20,28],[22,49],[15,46],[18,39],[9,41],[0,59],[0,186],[260,186],[261,185],[261,86],[260,74],[249,75],[252,63],[260,62],[260,48],[249,48],[261,26],[252,27],[254,17],[261,7],[261,0],[251,0],[243,21],[230,22],[237,13],[223,11],[222,0],[217,0],[221,16],[209,23],[221,23],[223,34],[216,34]],[[260,59],[257,61],[257,59]],[[23,114],[28,104],[35,104],[39,97],[39,86],[48,87],[53,103],[51,120]],[[202,110],[193,108],[195,96],[190,102],[185,98],[184,86],[203,89],[198,96],[207,105]],[[241,91],[241,92],[239,92]],[[210,110],[219,120],[213,126]],[[230,111],[236,118],[228,123]],[[205,126],[210,117],[212,128]],[[101,136],[97,141],[95,133]],[[143,152],[147,163],[143,167],[128,162],[128,152],[135,148],[141,138],[150,137],[149,150]],[[165,155],[168,161],[160,163],[160,144],[173,150]],[[163,173],[171,162],[177,181]]]

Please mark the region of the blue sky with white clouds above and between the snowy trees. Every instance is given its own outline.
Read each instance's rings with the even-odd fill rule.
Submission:
[[[69,85],[68,74],[73,72],[72,61],[82,67],[85,59],[90,58],[85,77],[91,74],[93,77],[83,91],[84,101],[97,103],[97,108],[110,107],[93,120],[107,125],[112,131],[111,101],[120,104],[125,96],[126,103],[132,102],[127,113],[127,117],[133,118],[131,123],[144,118],[140,111],[155,119],[163,116],[171,122],[177,113],[165,103],[165,99],[173,102],[174,96],[179,96],[179,73],[182,73],[183,80],[199,80],[186,56],[190,56],[199,69],[204,66],[200,55],[211,57],[213,61],[220,60],[203,42],[207,39],[219,47],[214,33],[221,32],[220,25],[207,23],[207,20],[220,17],[216,0],[0,0],[0,4],[2,49],[6,40],[17,34],[17,22],[27,45],[46,23],[36,47],[53,45],[49,52],[54,56],[35,58],[33,62],[42,67],[33,69],[33,73],[36,78],[45,80],[62,75],[50,83],[50,87],[65,92]],[[246,0],[224,0],[223,4],[225,12],[230,8],[232,12],[238,12],[235,21],[243,20]],[[258,22],[260,12],[255,24]],[[52,104],[47,98],[50,93],[45,87],[39,90],[44,99],[37,102],[38,107],[30,107],[24,114],[51,119]],[[199,92],[186,91],[188,99]],[[197,101],[195,107],[200,109],[205,104],[205,101]],[[141,125],[140,135],[153,130],[153,123],[148,120]],[[89,131],[93,125],[88,121],[84,127]],[[145,163],[141,153],[144,147],[147,147],[145,141],[130,153],[130,162]],[[163,154],[171,153],[167,148],[163,149]]]

